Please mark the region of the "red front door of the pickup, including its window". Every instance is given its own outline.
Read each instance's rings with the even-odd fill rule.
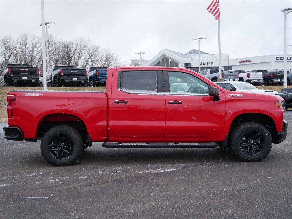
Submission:
[[[220,138],[225,121],[223,92],[220,90],[219,101],[213,101],[208,95],[210,85],[187,70],[164,71],[163,78],[166,86],[165,137],[182,141]]]

